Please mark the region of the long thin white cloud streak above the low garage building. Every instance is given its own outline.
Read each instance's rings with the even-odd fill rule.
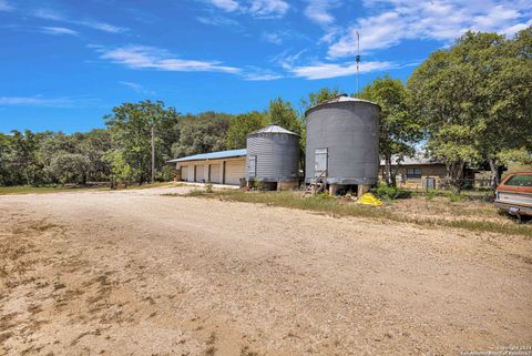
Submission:
[[[100,50],[101,58],[132,69],[153,69],[175,72],[225,72],[238,73],[241,69],[222,65],[218,61],[184,60],[166,50],[145,45]]]

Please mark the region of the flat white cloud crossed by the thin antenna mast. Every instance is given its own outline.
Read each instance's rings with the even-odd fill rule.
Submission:
[[[360,73],[383,71],[396,67],[391,62],[364,62],[360,63]],[[357,63],[316,63],[313,65],[293,67],[288,68],[288,70],[296,77],[309,80],[328,79],[356,74]]]

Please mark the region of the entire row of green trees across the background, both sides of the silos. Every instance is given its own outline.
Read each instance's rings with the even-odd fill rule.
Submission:
[[[182,114],[146,100],[115,106],[104,116],[105,129],[88,133],[12,131],[0,134],[0,185],[149,182],[152,131],[161,181],[174,173],[167,160],[245,148],[247,134],[267,124],[296,132],[304,149],[305,111],[338,94],[324,88],[301,99],[300,110],[278,98],[262,112],[237,115]],[[392,163],[419,146],[446,163],[457,189],[468,164],[489,164],[497,184],[500,165],[532,163],[532,27],[512,39],[467,32],[433,52],[406,83],[377,78],[352,95],[381,106],[379,150],[388,184],[396,183]]]

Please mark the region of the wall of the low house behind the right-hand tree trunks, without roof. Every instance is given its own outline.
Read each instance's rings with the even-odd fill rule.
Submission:
[[[420,170],[420,177],[408,177],[408,170]],[[422,190],[424,187],[426,180],[433,177],[436,180],[436,189],[441,189],[443,180],[447,176],[447,169],[444,164],[413,164],[413,165],[392,165],[391,170],[397,172],[397,185],[400,187]],[[385,177],[385,166],[379,169],[379,179]]]

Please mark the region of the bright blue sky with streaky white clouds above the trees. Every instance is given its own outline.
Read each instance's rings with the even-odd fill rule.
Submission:
[[[532,0],[0,0],[0,132],[89,131],[122,102],[264,110],[407,79],[468,29],[509,37]]]

